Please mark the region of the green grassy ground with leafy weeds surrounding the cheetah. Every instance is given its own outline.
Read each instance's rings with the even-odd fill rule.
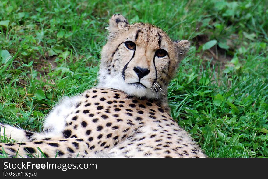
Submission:
[[[58,99],[96,85],[114,13],[191,41],[168,97],[208,157],[268,157],[263,0],[1,0],[0,122],[40,131]]]

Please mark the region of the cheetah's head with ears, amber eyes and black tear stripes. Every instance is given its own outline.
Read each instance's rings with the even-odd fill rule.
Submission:
[[[177,65],[189,50],[187,40],[172,41],[161,29],[144,23],[129,25],[113,15],[103,47],[99,87],[148,98],[166,96]]]

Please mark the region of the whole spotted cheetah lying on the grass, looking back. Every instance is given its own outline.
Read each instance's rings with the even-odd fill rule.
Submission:
[[[120,14],[107,29],[97,87],[63,98],[41,133],[1,124],[16,142],[0,149],[10,157],[206,157],[172,119],[166,97],[189,41]]]

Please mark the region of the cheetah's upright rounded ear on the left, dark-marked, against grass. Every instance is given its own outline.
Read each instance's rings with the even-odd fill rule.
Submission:
[[[129,22],[124,16],[120,14],[114,14],[109,20],[108,30],[110,32],[115,32],[119,29],[124,29],[128,25],[129,25]]]

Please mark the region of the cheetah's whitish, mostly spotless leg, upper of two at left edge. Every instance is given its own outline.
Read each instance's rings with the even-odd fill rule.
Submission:
[[[6,136],[9,139],[14,139],[17,142],[29,142],[32,140],[45,140],[51,137],[53,138],[63,138],[61,132],[42,132],[36,133],[20,128],[12,127],[10,125],[0,124],[0,134],[1,136]]]

